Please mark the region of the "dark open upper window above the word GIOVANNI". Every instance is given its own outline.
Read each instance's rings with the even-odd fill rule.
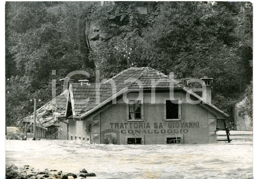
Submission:
[[[181,100],[165,100],[165,120],[181,120]]]

